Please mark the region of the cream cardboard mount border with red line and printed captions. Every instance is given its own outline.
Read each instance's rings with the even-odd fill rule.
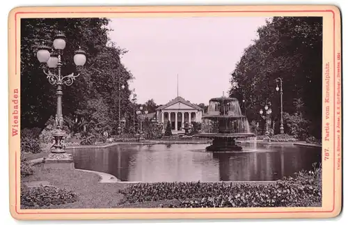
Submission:
[[[205,11],[204,13],[202,11]],[[208,12],[209,11],[209,12]],[[274,12],[277,11],[277,12]],[[9,133],[13,125],[13,98],[19,95],[20,106],[20,19],[38,17],[273,17],[273,16],[320,16],[323,17],[323,63],[329,63],[329,98],[327,103],[329,141],[323,141],[329,149],[329,160],[323,160],[323,205],[322,208],[138,208],[138,209],[61,209],[21,210],[20,205],[20,133],[9,135],[10,155],[10,212],[16,219],[212,219],[212,218],[303,218],[335,217],[342,206],[342,169],[335,162],[341,153],[341,142],[334,139],[341,135],[338,130],[341,119],[339,72],[336,70],[337,54],[341,49],[340,11],[335,6],[133,6],[133,7],[26,7],[11,10],[8,17],[8,63],[9,63]],[[323,90],[325,90],[323,81]],[[17,93],[14,95],[14,91]],[[19,93],[18,93],[19,91]],[[323,95],[324,96],[324,95]],[[336,106],[336,107],[335,107]],[[323,99],[323,111],[325,111]],[[18,109],[20,114],[20,109]],[[342,119],[340,120],[342,121]],[[17,123],[20,123],[20,121]],[[324,132],[323,132],[324,133]],[[337,134],[335,136],[335,134]],[[341,136],[340,136],[341,137]]]

